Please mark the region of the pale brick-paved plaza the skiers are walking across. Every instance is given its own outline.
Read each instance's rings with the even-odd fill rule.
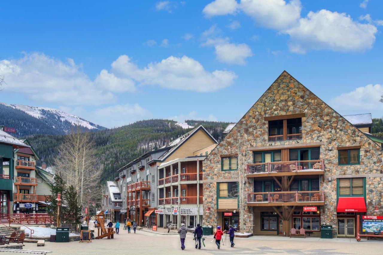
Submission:
[[[185,240],[186,249],[180,249],[178,235],[159,235],[150,232],[137,231],[128,234],[120,231],[114,239],[93,240],[92,243],[51,243],[46,242],[44,247],[26,243],[26,250],[51,250],[52,254],[129,254],[137,252],[152,254],[381,254],[383,241],[362,240],[357,243],[355,239],[318,239],[318,238],[277,238],[273,236],[254,236],[247,239],[236,238],[235,248],[230,245],[218,250],[214,242],[210,243],[212,236],[206,238],[206,247],[196,250],[193,236],[188,233]],[[229,237],[227,238],[229,244]]]

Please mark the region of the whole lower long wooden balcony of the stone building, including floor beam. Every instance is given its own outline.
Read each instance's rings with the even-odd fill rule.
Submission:
[[[324,193],[318,191],[257,192],[247,195],[248,206],[324,205]]]

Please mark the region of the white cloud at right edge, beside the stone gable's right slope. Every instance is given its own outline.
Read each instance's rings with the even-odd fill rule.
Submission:
[[[348,93],[333,97],[329,105],[340,114],[357,114],[371,112],[375,117],[381,117],[383,103],[379,102],[383,94],[383,85],[368,84]]]

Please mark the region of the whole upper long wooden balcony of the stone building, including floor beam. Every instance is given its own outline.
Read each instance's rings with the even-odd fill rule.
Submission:
[[[323,159],[247,164],[246,177],[324,174]]]

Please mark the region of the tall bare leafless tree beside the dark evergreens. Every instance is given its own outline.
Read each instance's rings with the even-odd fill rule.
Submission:
[[[88,132],[82,132],[77,125],[65,137],[65,142],[59,148],[59,156],[55,159],[57,171],[61,173],[68,184],[75,187],[79,195],[79,204],[87,206],[90,199],[84,195],[97,193],[100,182],[101,168],[95,157],[94,143]]]

